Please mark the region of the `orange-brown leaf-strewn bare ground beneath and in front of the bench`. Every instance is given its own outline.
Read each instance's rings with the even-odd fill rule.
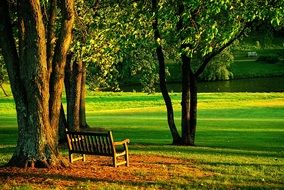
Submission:
[[[190,176],[202,178],[209,172],[196,168],[191,160],[159,155],[130,155],[130,166],[114,168],[109,157],[87,156],[87,161],[77,161],[68,168],[23,169],[0,168],[2,188],[28,185],[35,189],[66,189],[88,183],[93,189],[96,183],[137,187],[166,184],[188,180]],[[160,186],[160,185],[158,185]],[[1,186],[0,186],[1,187]]]

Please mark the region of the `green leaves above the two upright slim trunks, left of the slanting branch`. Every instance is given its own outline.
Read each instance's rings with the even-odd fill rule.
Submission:
[[[179,49],[176,51],[177,58],[184,52],[198,59],[219,49],[244,23],[240,14],[244,4],[227,1],[184,1],[183,4],[185,11],[179,16],[177,8],[171,6],[169,1],[160,3],[160,18],[165,23],[161,27],[164,36],[162,41],[176,44],[176,49]],[[179,20],[182,20],[183,27],[177,30]]]

